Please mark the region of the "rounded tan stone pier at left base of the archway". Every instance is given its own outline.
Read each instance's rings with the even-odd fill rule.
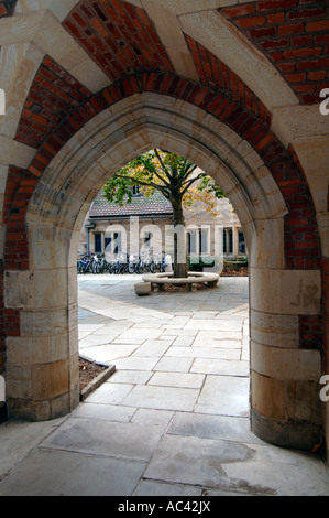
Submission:
[[[77,303],[66,287],[74,276],[65,269],[7,273],[6,307],[21,307],[20,328],[7,337],[7,397],[13,417],[48,420],[78,404]]]

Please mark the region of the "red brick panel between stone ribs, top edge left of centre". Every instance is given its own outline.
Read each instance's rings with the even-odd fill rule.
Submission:
[[[84,0],[63,25],[112,80],[144,69],[174,72],[150,18],[131,3]]]

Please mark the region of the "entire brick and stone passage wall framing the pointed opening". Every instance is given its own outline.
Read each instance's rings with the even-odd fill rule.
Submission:
[[[0,20],[10,411],[51,419],[77,404],[78,233],[109,175],[158,145],[209,172],[241,222],[253,430],[310,447],[329,350],[327,8],[150,6],[21,1]]]

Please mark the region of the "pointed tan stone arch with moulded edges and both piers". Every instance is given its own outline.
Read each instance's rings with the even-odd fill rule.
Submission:
[[[320,357],[299,348],[299,315],[319,313],[319,272],[287,269],[288,207],[260,153],[200,107],[155,93],[100,110],[30,185],[24,268],[8,268],[4,280],[6,311],[15,316],[7,338],[11,413],[52,419],[78,403],[76,238],[109,174],[154,145],[195,161],[235,207],[250,250],[252,428],[275,444],[308,447],[320,433]]]

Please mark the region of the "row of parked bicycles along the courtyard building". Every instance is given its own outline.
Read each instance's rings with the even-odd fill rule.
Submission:
[[[165,271],[165,253],[152,250],[141,256],[129,253],[87,255],[77,261],[77,272],[85,273],[156,273]]]

